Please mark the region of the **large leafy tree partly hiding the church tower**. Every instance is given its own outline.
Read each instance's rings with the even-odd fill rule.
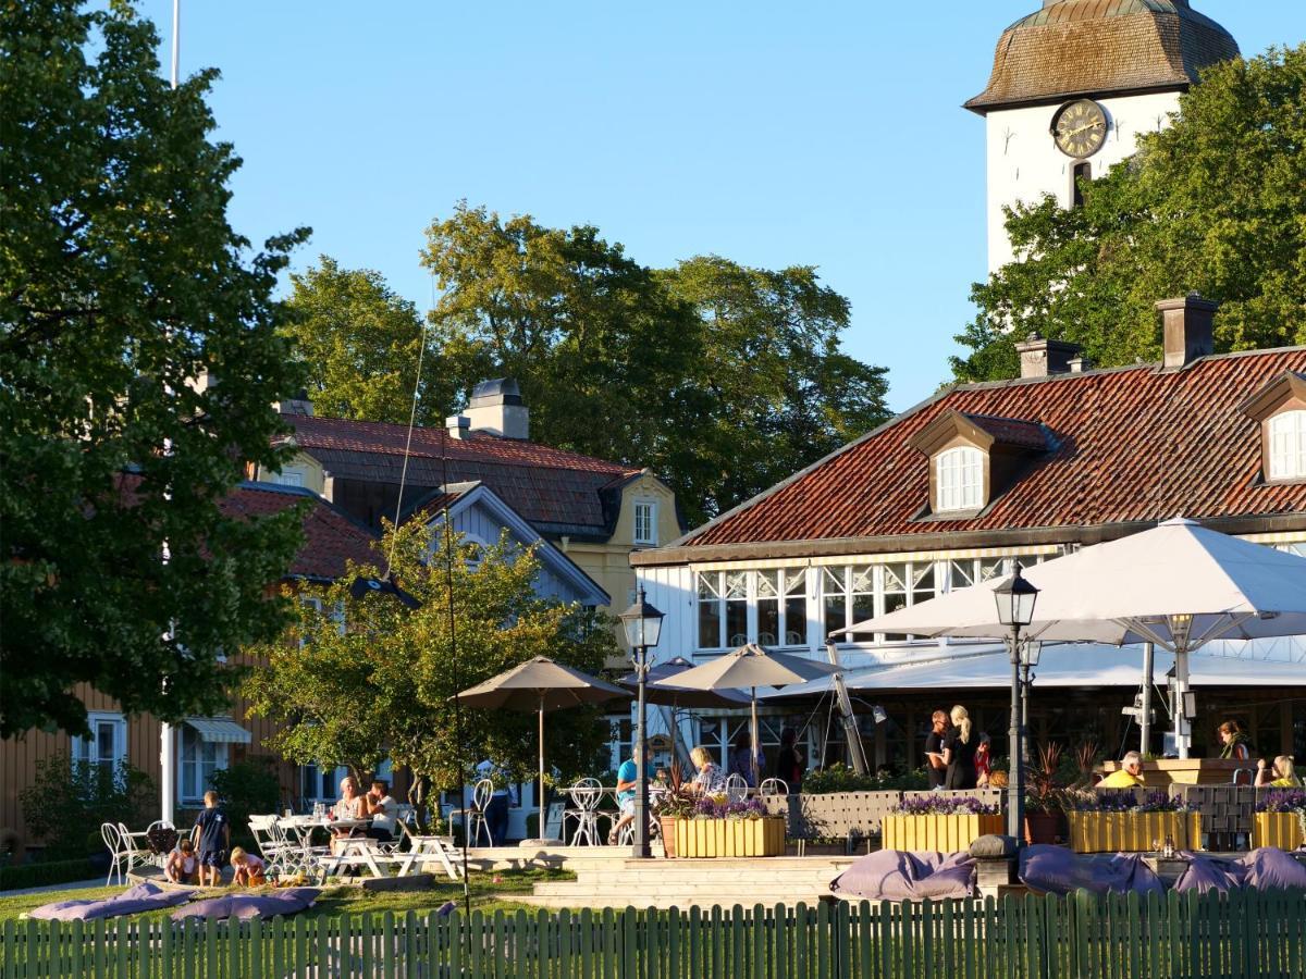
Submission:
[[[1030,332],[1109,367],[1158,360],[1158,299],[1217,300],[1217,351],[1306,342],[1306,44],[1209,68],[1173,124],[1084,185],[1008,211],[1020,260],[972,288],[959,380],[1019,373]]]

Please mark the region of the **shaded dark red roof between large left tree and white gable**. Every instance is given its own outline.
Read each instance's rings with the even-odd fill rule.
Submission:
[[[304,516],[304,546],[290,565],[291,577],[333,580],[345,573],[345,564],[375,564],[375,535],[355,523],[310,489],[270,483],[242,483],[222,501],[227,514],[268,517],[295,504],[310,501]]]

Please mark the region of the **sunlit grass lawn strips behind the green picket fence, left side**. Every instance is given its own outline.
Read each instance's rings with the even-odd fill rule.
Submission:
[[[477,872],[473,871],[468,878],[468,889],[471,893],[471,907],[482,911],[517,910],[526,907],[521,902],[513,902],[513,894],[529,894],[537,881],[575,880],[576,875],[567,871],[532,869],[532,871],[499,871]],[[80,890],[47,890],[39,894],[18,894],[14,897],[0,897],[0,922],[18,918],[26,911],[31,911],[42,905],[56,901],[84,901],[112,897],[121,893],[121,888],[82,888]],[[230,888],[210,889],[199,892],[200,897],[215,897],[230,893]],[[409,911],[418,914],[434,911],[444,902],[453,901],[462,905],[462,884],[452,880],[438,878],[435,885],[426,890],[387,890],[380,893],[367,892],[355,886],[328,886],[323,890],[317,902],[300,916],[307,918],[337,918],[340,915],[384,914],[392,911],[404,915]],[[145,920],[161,920],[171,914],[171,909],[150,911],[140,915]]]

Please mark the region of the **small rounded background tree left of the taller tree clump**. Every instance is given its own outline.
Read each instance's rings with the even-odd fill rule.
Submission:
[[[413,402],[422,319],[417,307],[396,295],[371,269],[341,269],[320,257],[317,268],[291,275],[296,313],[289,335],[308,369],[315,410],[332,418],[406,424]],[[452,392],[441,372],[423,371],[418,407],[423,420],[439,423]]]

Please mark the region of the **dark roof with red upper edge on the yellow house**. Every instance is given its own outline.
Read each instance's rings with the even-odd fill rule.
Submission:
[[[337,479],[398,484],[406,426],[293,414],[282,419],[294,427],[295,444]],[[415,428],[406,483],[419,492],[406,492],[405,506],[445,483],[479,480],[541,533],[606,538],[619,505],[619,495],[609,491],[640,471],[485,432],[451,439],[443,428]]]

